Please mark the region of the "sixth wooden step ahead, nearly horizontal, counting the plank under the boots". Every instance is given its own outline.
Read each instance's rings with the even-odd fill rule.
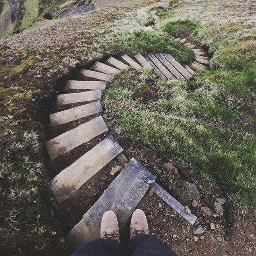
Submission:
[[[107,82],[103,81],[76,81],[70,80],[68,81],[67,88],[68,89],[81,89],[81,90],[105,90],[107,86]]]

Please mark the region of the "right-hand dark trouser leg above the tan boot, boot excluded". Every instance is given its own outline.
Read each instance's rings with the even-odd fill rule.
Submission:
[[[163,241],[151,235],[137,235],[127,248],[127,256],[177,256]]]

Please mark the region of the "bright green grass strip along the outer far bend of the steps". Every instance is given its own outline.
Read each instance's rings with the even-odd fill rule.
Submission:
[[[167,35],[144,30],[128,33],[123,38],[118,38],[111,43],[107,42],[105,49],[109,53],[114,51],[116,54],[170,53],[183,64],[187,64],[195,57],[190,49],[185,48],[178,41],[171,40]]]

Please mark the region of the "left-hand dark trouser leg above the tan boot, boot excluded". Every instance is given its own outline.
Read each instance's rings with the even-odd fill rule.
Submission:
[[[84,244],[71,256],[120,256],[120,244],[113,239],[96,239]]]

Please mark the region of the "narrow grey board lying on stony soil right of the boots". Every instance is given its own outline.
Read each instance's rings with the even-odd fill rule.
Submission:
[[[192,213],[188,214],[185,211],[185,207],[179,203],[175,198],[173,198],[169,193],[167,193],[162,187],[160,187],[157,183],[154,183],[154,192],[162,198],[166,203],[169,204],[173,210],[177,211],[185,220],[187,220],[190,224],[194,224],[197,220],[197,217]]]

